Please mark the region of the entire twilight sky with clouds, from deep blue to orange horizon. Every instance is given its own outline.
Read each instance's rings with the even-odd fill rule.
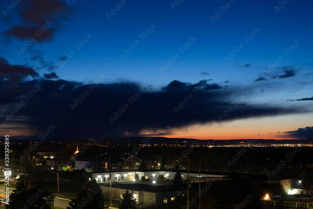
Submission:
[[[311,1],[0,1],[0,136],[313,138]]]

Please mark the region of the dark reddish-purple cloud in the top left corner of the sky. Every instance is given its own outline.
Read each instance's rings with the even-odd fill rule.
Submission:
[[[30,40],[32,37],[38,42],[53,40],[54,34],[60,30],[58,21],[67,20],[71,12],[67,4],[59,0],[23,0],[18,6],[21,21],[5,34],[20,40]],[[45,30],[38,32],[43,27]]]

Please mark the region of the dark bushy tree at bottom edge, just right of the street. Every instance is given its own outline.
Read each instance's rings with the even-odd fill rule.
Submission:
[[[67,209],[104,209],[109,206],[104,206],[104,198],[102,196],[102,189],[99,186],[93,187],[91,190],[82,190],[78,193],[76,199],[71,199]]]

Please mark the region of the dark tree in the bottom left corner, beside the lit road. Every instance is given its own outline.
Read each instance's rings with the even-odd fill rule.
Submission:
[[[47,190],[45,187],[27,189],[26,186],[19,185],[11,193],[10,204],[5,205],[5,208],[24,208],[24,205],[27,205],[28,209],[51,209],[54,196]]]

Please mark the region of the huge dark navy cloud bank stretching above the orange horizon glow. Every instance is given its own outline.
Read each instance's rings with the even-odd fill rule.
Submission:
[[[171,130],[194,124],[213,123],[229,107],[232,107],[233,111],[223,121],[277,115],[277,110],[280,109],[280,106],[253,104],[246,100],[241,100],[242,102],[236,105],[236,99],[242,95],[252,97],[253,91],[239,87],[228,89],[207,80],[196,84],[174,80],[161,89],[152,90],[136,82],[82,84],[62,79],[38,78],[38,73],[32,68],[10,65],[4,58],[0,60],[0,69],[5,69],[5,79],[0,82],[1,126],[13,127],[14,123],[14,126],[27,127],[28,131],[38,130],[34,133],[38,136],[47,130],[49,125],[54,125],[56,128],[49,134],[48,140],[55,137],[140,135],[142,130],[156,127],[158,130]],[[12,71],[16,73],[13,74]],[[10,73],[13,78],[8,76]],[[21,75],[16,79],[15,74]],[[98,80],[102,77],[105,76],[99,75]],[[8,85],[12,79],[16,80],[14,86]],[[25,95],[36,85],[42,87],[32,98],[26,100]],[[85,95],[86,93],[88,95]],[[174,107],[178,107],[190,94],[192,98],[176,114]],[[26,104],[7,120],[6,115],[9,115],[10,110],[20,104],[21,100]],[[128,105],[127,109],[124,108],[125,105]],[[118,111],[122,114],[119,112],[117,115]],[[300,109],[292,108],[288,110],[288,114],[298,111]],[[110,117],[116,118],[113,124]]]

